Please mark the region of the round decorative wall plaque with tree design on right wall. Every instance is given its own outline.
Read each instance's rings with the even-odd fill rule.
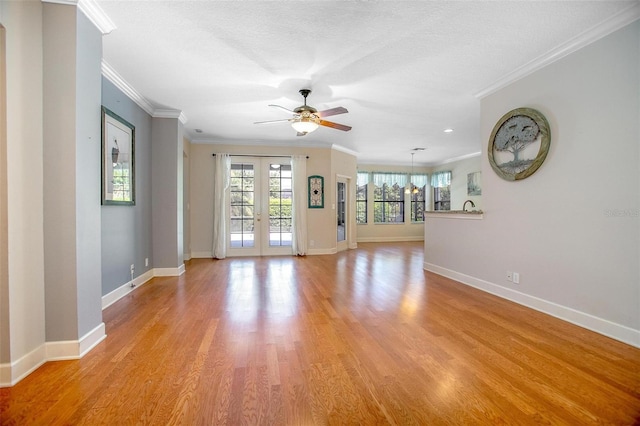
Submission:
[[[520,180],[531,176],[544,162],[551,145],[549,123],[539,111],[517,108],[496,123],[487,155],[498,176]]]

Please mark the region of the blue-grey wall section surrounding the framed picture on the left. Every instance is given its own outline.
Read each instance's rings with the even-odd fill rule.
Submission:
[[[153,266],[151,238],[152,118],[109,80],[102,78],[102,105],[135,126],[135,206],[102,206],[102,295]],[[149,266],[144,266],[145,258]]]

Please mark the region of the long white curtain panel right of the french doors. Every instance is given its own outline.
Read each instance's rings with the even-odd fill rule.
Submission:
[[[293,240],[291,242],[293,254],[304,256],[307,254],[307,157],[294,155],[291,157],[292,188],[292,224]]]

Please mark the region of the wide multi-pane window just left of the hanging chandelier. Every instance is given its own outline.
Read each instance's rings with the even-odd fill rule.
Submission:
[[[373,221],[375,223],[404,222],[404,173],[373,173]]]

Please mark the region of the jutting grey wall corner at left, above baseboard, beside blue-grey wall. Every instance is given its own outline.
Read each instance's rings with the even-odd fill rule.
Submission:
[[[102,323],[102,34],[75,6],[45,3],[43,35],[45,312],[53,342],[78,340]]]

